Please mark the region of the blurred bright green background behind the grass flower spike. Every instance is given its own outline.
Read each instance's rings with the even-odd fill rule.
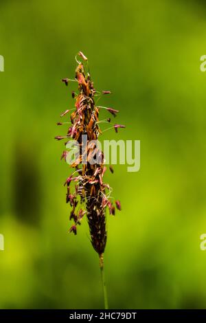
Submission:
[[[110,308],[206,307],[204,1],[0,2],[0,307],[101,308],[98,256],[86,219],[68,234],[55,135],[73,104],[74,56],[88,58],[101,100],[126,124],[102,139],[141,140],[141,170],[107,181],[122,212],[108,216]],[[104,113],[103,113],[104,114]]]

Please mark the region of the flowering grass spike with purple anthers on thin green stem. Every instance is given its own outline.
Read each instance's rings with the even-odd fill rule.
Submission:
[[[81,61],[80,61],[81,60]],[[89,232],[91,244],[95,252],[100,257],[100,269],[102,274],[102,283],[104,291],[104,304],[108,308],[106,298],[106,285],[104,280],[104,263],[103,255],[106,247],[106,209],[109,214],[115,215],[115,208],[121,210],[121,204],[117,200],[113,203],[111,195],[111,187],[108,183],[104,183],[104,173],[106,166],[104,164],[104,153],[98,146],[89,145],[89,142],[98,140],[99,135],[104,131],[100,129],[100,124],[110,124],[108,129],[113,128],[117,133],[120,128],[125,128],[121,124],[112,124],[111,118],[106,120],[99,120],[99,113],[101,109],[106,109],[108,113],[115,117],[119,111],[100,107],[95,103],[103,95],[110,94],[111,91],[96,91],[91,80],[89,65],[87,57],[82,52],[76,56],[78,67],[76,68],[75,79],[63,78],[62,82],[66,86],[70,82],[78,84],[78,93],[72,91],[72,98],[75,100],[75,108],[66,110],[61,114],[62,118],[67,118],[70,111],[71,115],[69,122],[58,122],[58,126],[63,126],[69,123],[66,135],[56,136],[56,140],[65,140],[67,146],[68,140],[76,140],[80,146],[80,154],[75,159],[71,168],[73,172],[65,181],[67,187],[66,203],[71,205],[70,220],[73,221],[69,232],[77,234],[78,226],[81,224],[83,216],[87,216],[89,224]],[[87,135],[87,150],[83,148],[82,136]],[[63,151],[61,159],[67,161],[69,151]],[[95,164],[91,161],[97,161]],[[87,159],[87,163],[83,162]],[[100,162],[101,161],[101,162]],[[109,169],[113,173],[113,167]]]

